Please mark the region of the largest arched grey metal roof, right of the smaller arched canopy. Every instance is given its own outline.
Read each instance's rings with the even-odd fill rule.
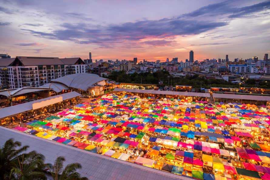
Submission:
[[[51,83],[59,82],[66,85],[67,87],[82,89],[86,91],[88,87],[91,87],[97,82],[101,82],[103,80],[108,80],[108,79],[101,78],[97,74],[77,73],[77,74],[71,74],[71,75],[62,76],[60,78],[53,79],[51,80]]]

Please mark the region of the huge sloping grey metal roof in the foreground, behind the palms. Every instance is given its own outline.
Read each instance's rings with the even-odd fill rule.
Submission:
[[[63,156],[66,159],[64,166],[75,162],[80,163],[82,168],[78,169],[77,172],[79,172],[82,177],[87,177],[89,180],[192,179],[119,159],[106,157],[104,155],[92,153],[83,149],[15,131],[13,129],[0,127],[0,134],[1,146],[4,145],[8,139],[13,138],[15,141],[20,141],[22,145],[29,145],[27,152],[36,151],[44,155],[45,163],[53,164],[58,156]]]

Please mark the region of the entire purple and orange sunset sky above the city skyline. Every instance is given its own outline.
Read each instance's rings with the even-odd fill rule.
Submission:
[[[12,57],[263,59],[270,1],[2,0],[0,32]]]

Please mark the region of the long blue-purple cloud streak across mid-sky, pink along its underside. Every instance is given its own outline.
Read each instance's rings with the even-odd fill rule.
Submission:
[[[177,35],[200,34],[228,22],[185,20],[179,18],[127,22],[120,25],[91,26],[85,23],[64,23],[61,29],[51,33],[22,29],[28,33],[49,39],[69,40],[79,44],[97,44],[139,41],[145,38],[171,38]],[[149,42],[151,43],[151,42]],[[154,43],[154,42],[153,42]],[[156,42],[157,43],[157,42]]]

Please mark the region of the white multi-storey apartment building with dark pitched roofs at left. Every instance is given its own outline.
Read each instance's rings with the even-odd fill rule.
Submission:
[[[86,73],[81,58],[5,58],[0,60],[0,88],[39,87],[52,79],[76,73]]]

